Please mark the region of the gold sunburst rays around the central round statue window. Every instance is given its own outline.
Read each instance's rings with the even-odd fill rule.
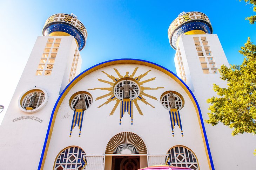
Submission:
[[[146,96],[146,97],[148,97],[148,98],[157,100],[156,97],[154,97],[154,96],[152,96],[152,95],[149,95],[149,94],[147,94],[147,93],[144,93],[143,91],[144,91],[144,90],[158,90],[158,89],[160,89],[160,88],[164,88],[164,87],[151,88],[151,87],[143,87],[143,86],[140,86],[140,95],[139,95],[137,98],[135,98],[135,99],[133,99],[133,100],[130,100],[129,102],[127,102],[127,101],[125,101],[125,100],[124,100],[124,101],[123,101],[123,100],[121,101],[121,100],[117,99],[117,98],[115,97],[114,93],[113,93],[113,86],[115,85],[115,83],[117,82],[118,79],[129,77],[129,78],[135,79],[139,85],[143,85],[144,83],[147,83],[147,82],[150,82],[150,81],[155,80],[155,77],[154,77],[154,78],[150,78],[150,79],[147,79],[147,80],[144,80],[144,81],[140,82],[141,78],[143,78],[143,77],[145,77],[146,75],[148,75],[148,73],[149,73],[151,70],[148,70],[147,72],[145,72],[145,73],[143,73],[143,74],[141,74],[141,75],[139,75],[139,76],[133,78],[133,77],[135,76],[135,74],[136,74],[136,72],[137,72],[138,69],[139,69],[139,67],[136,67],[136,68],[134,69],[133,73],[132,73],[130,76],[129,76],[129,72],[128,72],[128,71],[126,71],[126,75],[122,76],[122,75],[120,74],[120,72],[119,72],[117,69],[114,68],[114,71],[116,72],[116,75],[117,75],[119,78],[117,78],[117,77],[115,77],[115,76],[113,76],[113,75],[109,75],[109,74],[106,73],[105,71],[102,71],[105,75],[107,75],[108,78],[112,79],[114,83],[109,82],[109,81],[107,81],[107,80],[102,80],[102,79],[98,79],[98,80],[99,80],[100,82],[109,84],[111,87],[95,87],[95,88],[89,88],[89,89],[88,89],[88,90],[97,90],[97,89],[99,89],[99,90],[107,90],[107,91],[109,91],[109,93],[104,94],[104,95],[102,95],[102,96],[96,98],[96,100],[99,100],[99,99],[103,99],[103,98],[105,98],[105,97],[110,96],[110,97],[107,99],[107,101],[105,101],[105,102],[104,102],[102,105],[100,105],[98,108],[102,107],[103,105],[107,105],[107,104],[110,103],[111,101],[115,101],[115,100],[116,100],[116,103],[115,103],[115,105],[114,105],[114,107],[113,107],[113,109],[112,109],[112,111],[110,112],[109,115],[113,115],[114,112],[116,111],[116,108],[120,105],[120,125],[121,125],[121,118],[122,118],[122,115],[126,112],[126,110],[122,108],[122,107],[123,107],[123,106],[122,106],[123,104],[124,104],[124,105],[127,105],[127,111],[128,111],[128,105],[130,106],[130,108],[131,108],[131,110],[132,110],[132,109],[133,109],[133,103],[134,103],[134,105],[135,105],[137,111],[139,112],[139,114],[140,114],[140,115],[143,115],[143,113],[142,113],[142,111],[141,111],[141,108],[140,108],[140,106],[139,106],[139,104],[138,104],[138,101],[142,101],[144,104],[149,105],[149,106],[151,106],[152,108],[155,108],[155,107],[154,107],[153,105],[151,105],[149,102],[147,102],[146,99],[142,97],[142,95],[143,95],[143,96]],[[122,105],[120,104],[121,102],[122,102]],[[129,104],[129,103],[130,103],[130,104]],[[125,108],[125,107],[124,107],[124,108]],[[129,114],[129,113],[128,113],[128,114]],[[133,120],[133,112],[132,112],[132,111],[130,112],[130,117],[131,117],[131,119]],[[133,121],[131,121],[131,122],[133,122]],[[133,123],[132,123],[132,124],[133,124]]]

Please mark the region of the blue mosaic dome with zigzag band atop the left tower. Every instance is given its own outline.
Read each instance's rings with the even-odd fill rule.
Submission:
[[[43,26],[43,36],[69,36],[75,37],[79,51],[86,44],[87,30],[74,14],[54,14],[50,16]]]

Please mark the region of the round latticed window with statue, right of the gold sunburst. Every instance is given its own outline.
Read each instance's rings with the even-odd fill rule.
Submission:
[[[173,95],[175,98],[175,100],[173,101],[172,108],[177,108],[177,110],[179,111],[184,106],[184,99],[182,95],[178,92],[175,92],[175,91],[164,92],[161,96],[162,105],[167,110],[170,110],[172,105],[171,95]]]

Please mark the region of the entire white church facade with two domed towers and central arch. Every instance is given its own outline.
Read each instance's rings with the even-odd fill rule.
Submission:
[[[205,14],[170,24],[177,75],[126,58],[80,72],[87,30],[75,15],[50,16],[42,33],[0,127],[0,169],[256,167],[252,135],[204,122],[213,83],[225,87],[217,69],[229,65]]]

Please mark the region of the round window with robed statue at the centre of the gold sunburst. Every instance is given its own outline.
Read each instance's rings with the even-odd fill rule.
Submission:
[[[117,99],[136,99],[140,95],[140,86],[135,79],[122,78],[114,85],[114,95]]]

